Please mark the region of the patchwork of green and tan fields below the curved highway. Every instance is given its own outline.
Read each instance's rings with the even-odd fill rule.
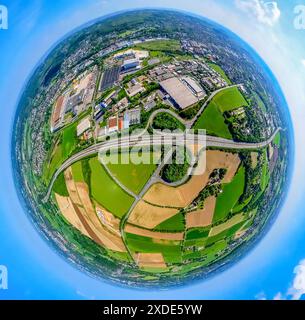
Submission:
[[[109,172],[128,190],[139,194],[155,165],[124,165],[119,160],[108,164],[107,171],[97,157],[85,159],[66,170],[53,191],[65,218],[83,235],[106,247],[111,256],[122,261],[131,259],[147,272],[167,272],[173,267],[183,271],[185,263],[200,261],[208,265],[225,253],[230,241],[242,235],[253,220],[253,215],[242,212],[247,203],[239,203],[246,178],[238,154],[207,151],[206,156],[207,168],[202,175],[178,188],[153,185],[131,212],[136,199]],[[226,169],[220,181],[221,193],[207,197],[201,207],[187,209],[196,195],[207,188],[217,168]],[[169,199],[175,201],[169,203]],[[177,203],[180,208],[170,206]],[[128,223],[121,229],[127,214]],[[93,227],[95,224],[99,226]]]

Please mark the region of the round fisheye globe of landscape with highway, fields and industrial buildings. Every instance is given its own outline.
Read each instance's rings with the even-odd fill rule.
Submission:
[[[269,69],[228,30],[168,10],[120,13],[67,36],[32,74],[15,120],[16,186],[83,271],[186,284],[236,262],[271,225],[289,119]]]

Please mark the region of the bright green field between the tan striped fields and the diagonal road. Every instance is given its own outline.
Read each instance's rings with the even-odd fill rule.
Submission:
[[[127,213],[134,199],[122,190],[107,174],[97,158],[89,160],[92,197],[118,218]]]

